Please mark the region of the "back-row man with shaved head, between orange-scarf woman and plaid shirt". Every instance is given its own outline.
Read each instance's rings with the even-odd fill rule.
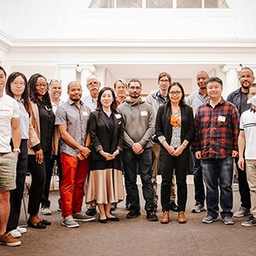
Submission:
[[[209,100],[207,95],[207,82],[209,76],[205,71],[200,71],[196,75],[196,82],[199,90],[191,93],[187,99],[187,104],[193,108],[195,116],[196,110]],[[191,146],[192,160],[194,167],[194,185],[195,185],[195,206],[191,208],[191,212],[202,212],[205,211],[205,185],[203,183],[203,177],[201,172],[200,160],[195,159],[195,151]]]

